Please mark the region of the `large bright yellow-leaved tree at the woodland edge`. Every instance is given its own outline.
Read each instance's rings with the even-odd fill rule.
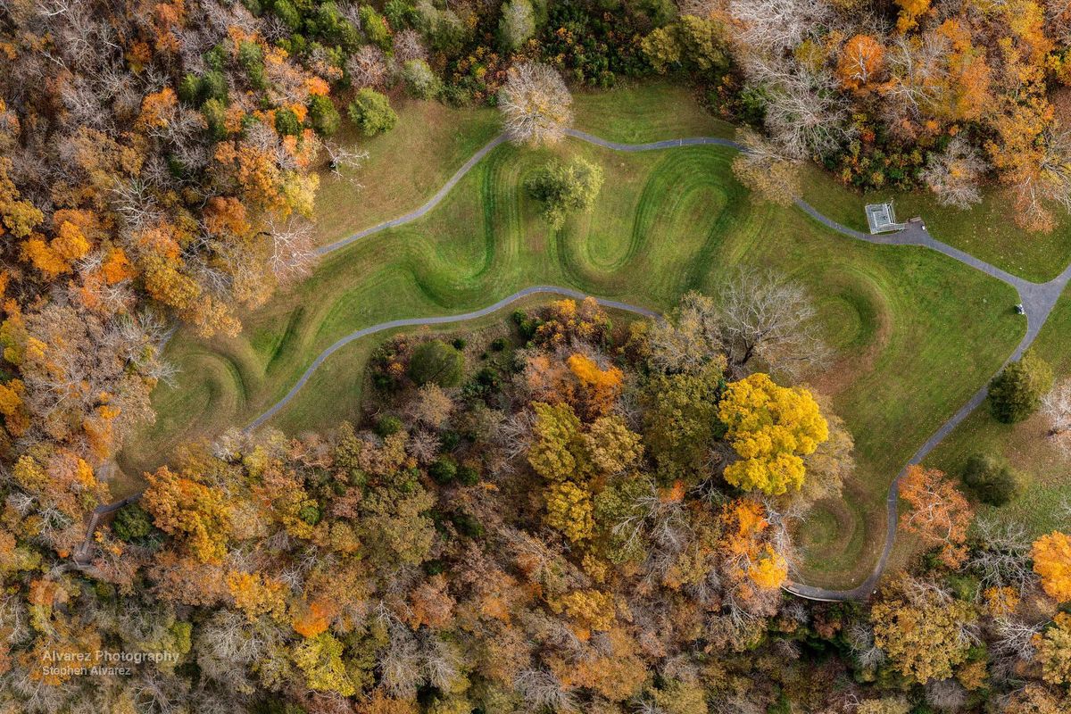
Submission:
[[[771,496],[799,490],[802,457],[829,438],[829,425],[810,392],[779,386],[761,373],[729,384],[718,416],[740,456],[725,468],[725,481]]]

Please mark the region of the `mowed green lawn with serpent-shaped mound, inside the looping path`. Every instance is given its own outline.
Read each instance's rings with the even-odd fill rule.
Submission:
[[[675,106],[688,101],[682,90],[650,91],[661,98],[638,103],[632,126],[620,120],[631,110],[627,102],[615,111],[613,94],[580,95],[577,124],[630,141],[727,133],[721,122]],[[672,125],[674,112],[680,126]],[[602,131],[607,117],[614,125]],[[583,155],[606,173],[594,211],[557,234],[523,189],[554,154]],[[1010,309],[1015,295],[934,252],[864,244],[797,209],[756,203],[733,178],[733,156],[718,147],[625,154],[572,139],[554,152],[499,147],[432,214],[327,256],[307,280],[244,316],[238,338],[177,334],[167,356],[182,369],[178,383],[156,390],[157,423],[132,440],[122,466],[151,468],[184,440],[247,424],[320,351],[363,326],[464,313],[537,284],[668,309],[687,290],[715,292],[736,270],[772,268],[816,298],[839,354],[812,382],[847,422],[859,461],[847,507],[826,504],[814,514],[814,532],[803,527],[809,562],[801,579],[854,584],[880,547],[892,477],[1021,337],[1023,323]],[[427,165],[442,176],[456,169],[442,156]],[[390,215],[426,198],[413,196]],[[365,361],[382,338],[334,354],[273,424],[300,432],[357,415]]]

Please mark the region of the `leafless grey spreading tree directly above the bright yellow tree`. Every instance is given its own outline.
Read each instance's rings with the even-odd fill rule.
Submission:
[[[722,290],[721,312],[722,343],[737,371],[758,358],[795,376],[829,355],[810,295],[772,272],[738,272]]]

